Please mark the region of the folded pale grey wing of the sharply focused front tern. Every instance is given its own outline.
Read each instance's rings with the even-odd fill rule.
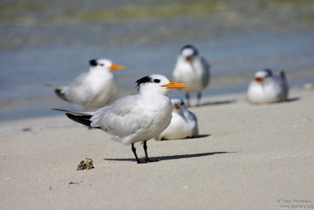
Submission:
[[[101,108],[90,119],[92,127],[100,127],[110,135],[125,137],[147,127],[151,120],[145,116],[138,95],[128,95],[111,106]]]

